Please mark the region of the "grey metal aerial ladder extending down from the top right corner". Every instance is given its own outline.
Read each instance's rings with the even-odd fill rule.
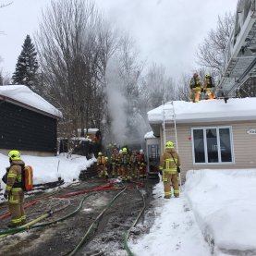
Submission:
[[[217,85],[217,94],[235,96],[236,90],[256,76],[256,0],[238,0],[232,30]]]

